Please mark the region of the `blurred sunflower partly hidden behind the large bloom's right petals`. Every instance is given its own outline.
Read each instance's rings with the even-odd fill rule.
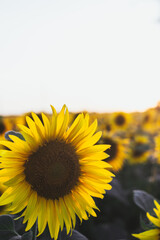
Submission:
[[[126,140],[120,139],[117,136],[105,135],[102,138],[102,143],[111,145],[111,147],[105,151],[109,155],[106,162],[112,166],[114,172],[119,171],[126,157]]]

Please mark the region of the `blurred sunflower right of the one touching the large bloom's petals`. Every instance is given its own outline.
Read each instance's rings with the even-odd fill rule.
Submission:
[[[128,150],[128,161],[131,164],[143,163],[150,156],[150,139],[147,135],[135,135]]]

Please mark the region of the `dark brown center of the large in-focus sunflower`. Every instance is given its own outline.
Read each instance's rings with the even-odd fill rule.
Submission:
[[[24,172],[26,181],[39,196],[54,200],[67,195],[78,184],[79,159],[71,144],[54,140],[29,156]]]

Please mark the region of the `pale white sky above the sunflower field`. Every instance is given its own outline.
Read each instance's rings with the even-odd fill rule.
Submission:
[[[160,100],[159,0],[1,0],[0,115]]]

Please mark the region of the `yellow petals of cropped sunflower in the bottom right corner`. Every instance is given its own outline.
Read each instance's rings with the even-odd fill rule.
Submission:
[[[153,210],[157,217],[153,217],[147,212],[147,218],[149,219],[149,221],[151,223],[153,223],[155,225],[156,228],[147,230],[142,233],[132,234],[133,237],[136,237],[136,238],[142,239],[142,240],[159,240],[159,236],[160,236],[160,205],[156,200],[154,201],[154,204],[155,204],[156,208],[154,208]]]

